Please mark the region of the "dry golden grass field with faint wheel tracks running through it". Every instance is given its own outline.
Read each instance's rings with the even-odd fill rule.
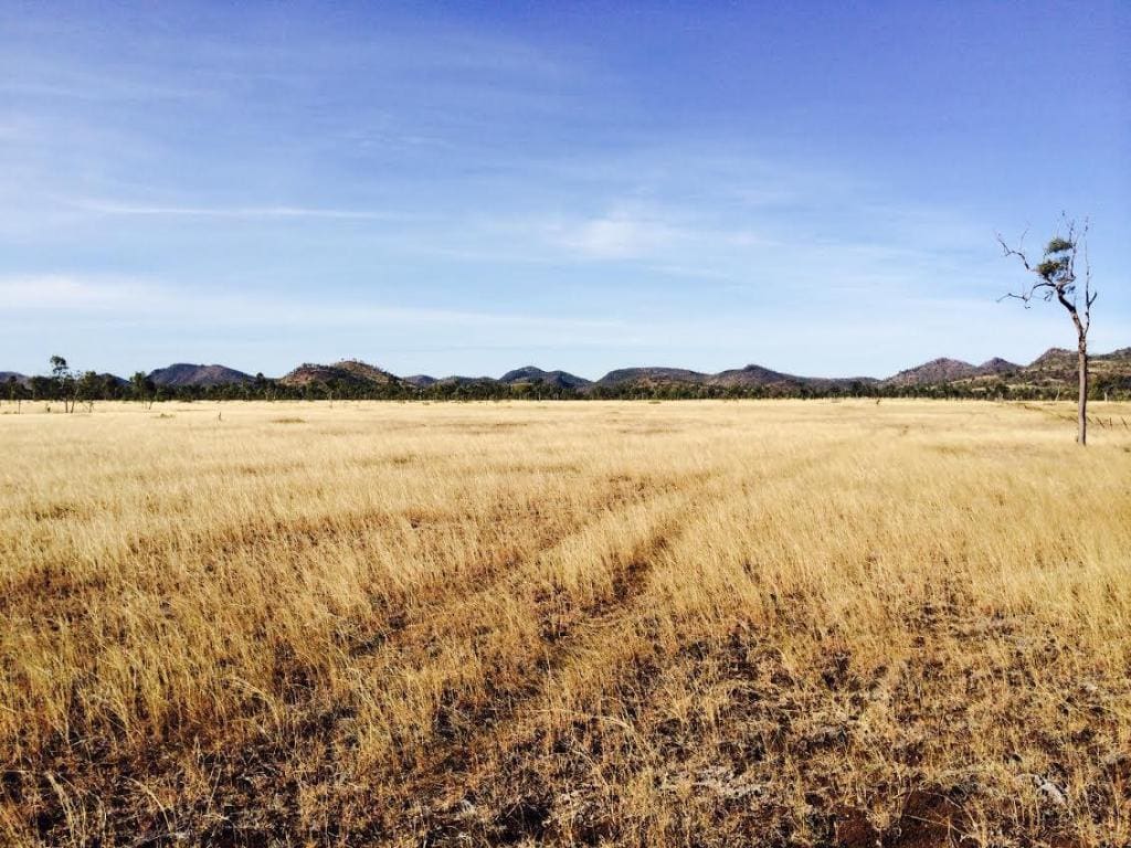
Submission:
[[[25,405],[0,842],[1126,846],[1095,414]]]

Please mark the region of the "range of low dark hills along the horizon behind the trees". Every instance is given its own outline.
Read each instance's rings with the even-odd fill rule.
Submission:
[[[987,360],[981,365],[943,357],[882,379],[873,377],[801,377],[772,371],[761,365],[746,365],[742,369],[731,369],[714,374],[677,367],[627,367],[610,371],[598,380],[588,380],[567,371],[544,371],[534,365],[508,371],[500,378],[459,375],[437,378],[428,374],[397,377],[365,362],[343,360],[329,365],[304,363],[277,378],[274,382],[291,389],[333,384],[353,388],[399,386],[416,389],[468,384],[509,387],[528,384],[576,393],[601,393],[601,390],[655,390],[665,387],[714,387],[739,390],[761,387],[777,390],[780,393],[789,393],[803,389],[829,391],[835,389],[851,390],[854,387],[893,389],[956,384],[972,387],[993,382],[1030,386],[1070,384],[1076,380],[1076,352],[1062,347],[1050,348],[1028,365],[998,357]],[[1123,347],[1108,354],[1093,355],[1089,370],[1095,375],[1113,378],[1121,386],[1125,381],[1131,387],[1131,347]],[[11,379],[23,386],[29,384],[31,381],[31,378],[25,374],[0,371],[0,384],[7,383]],[[148,379],[157,387],[204,389],[266,380],[261,374],[253,377],[226,365],[189,363],[174,363],[167,367],[156,369],[149,372]]]

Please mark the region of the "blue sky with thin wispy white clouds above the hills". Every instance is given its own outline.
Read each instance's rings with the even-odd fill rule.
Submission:
[[[777,8],[782,7],[782,8]],[[1131,345],[1131,5],[0,5],[0,370]]]

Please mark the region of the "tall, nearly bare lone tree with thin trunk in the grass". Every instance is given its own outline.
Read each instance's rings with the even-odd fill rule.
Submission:
[[[1077,228],[1076,220],[1061,214],[1063,234],[1057,233],[1045,245],[1041,261],[1031,263],[1025,252],[1025,236],[1017,248],[1010,248],[998,234],[998,243],[1007,257],[1017,257],[1025,270],[1034,276],[1020,292],[1010,292],[999,300],[1016,297],[1028,309],[1034,297],[1048,302],[1054,297],[1068,310],[1072,325],[1076,327],[1077,362],[1080,380],[1080,396],[1077,403],[1077,436],[1081,445],[1088,443],[1088,329],[1091,326],[1091,304],[1096,302],[1096,293],[1091,291],[1091,266],[1088,262],[1088,219]],[[1077,252],[1083,252],[1083,279],[1077,277]],[[1083,291],[1080,292],[1080,283]],[[1082,294],[1082,296],[1081,296]]]

